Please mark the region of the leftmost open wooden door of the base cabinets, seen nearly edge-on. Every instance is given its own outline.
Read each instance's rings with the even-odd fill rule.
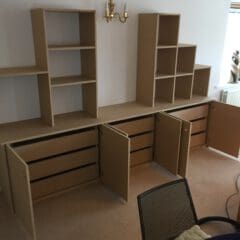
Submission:
[[[14,210],[25,230],[36,240],[33,202],[31,196],[28,166],[15,151],[7,145]]]

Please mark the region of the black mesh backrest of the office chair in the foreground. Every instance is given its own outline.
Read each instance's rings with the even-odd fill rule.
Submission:
[[[174,239],[197,224],[186,179],[150,189],[138,196],[143,240]]]

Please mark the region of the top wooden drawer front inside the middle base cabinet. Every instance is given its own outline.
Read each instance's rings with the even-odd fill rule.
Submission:
[[[127,133],[129,136],[143,132],[150,132],[154,129],[154,117],[147,117],[124,123],[114,124],[114,127]]]

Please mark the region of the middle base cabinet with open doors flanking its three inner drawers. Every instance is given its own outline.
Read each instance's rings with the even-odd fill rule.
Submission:
[[[165,112],[100,126],[104,185],[128,201],[131,168],[151,161],[184,176],[190,128],[187,121]]]

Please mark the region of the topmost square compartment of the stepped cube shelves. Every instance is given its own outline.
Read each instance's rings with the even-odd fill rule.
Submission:
[[[158,46],[177,45],[180,15],[160,14],[158,29]]]

